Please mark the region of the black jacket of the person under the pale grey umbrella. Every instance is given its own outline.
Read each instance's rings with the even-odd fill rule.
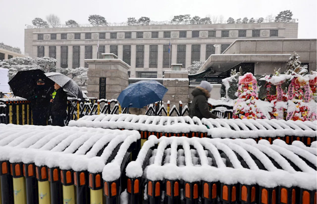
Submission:
[[[62,88],[56,90],[56,95],[52,104],[52,115],[66,115],[67,94]]]

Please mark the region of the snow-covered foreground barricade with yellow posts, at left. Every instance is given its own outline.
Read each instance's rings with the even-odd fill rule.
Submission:
[[[137,131],[13,124],[0,129],[2,203],[120,203],[124,169],[133,151],[138,154]],[[103,196],[102,174],[111,198]]]

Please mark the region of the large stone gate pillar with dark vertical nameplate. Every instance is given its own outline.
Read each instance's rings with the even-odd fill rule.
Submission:
[[[129,85],[130,66],[113,53],[103,53],[104,59],[85,59],[88,64],[87,96],[117,99]]]

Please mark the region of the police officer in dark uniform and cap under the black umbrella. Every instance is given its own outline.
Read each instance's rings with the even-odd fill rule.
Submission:
[[[33,125],[47,125],[50,90],[46,89],[44,79],[38,79],[33,95],[28,98],[32,109]]]

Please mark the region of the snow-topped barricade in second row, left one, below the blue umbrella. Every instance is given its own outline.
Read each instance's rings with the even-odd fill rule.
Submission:
[[[207,127],[197,118],[189,116],[149,116],[132,114],[100,114],[84,116],[70,121],[68,126],[101,127],[110,129],[138,130],[142,139],[150,135],[207,137]]]

